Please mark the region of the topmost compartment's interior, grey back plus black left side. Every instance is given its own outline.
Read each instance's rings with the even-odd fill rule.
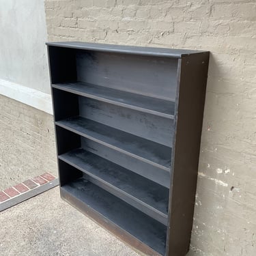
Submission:
[[[49,51],[52,84],[83,82],[175,102],[177,59],[58,47]]]

